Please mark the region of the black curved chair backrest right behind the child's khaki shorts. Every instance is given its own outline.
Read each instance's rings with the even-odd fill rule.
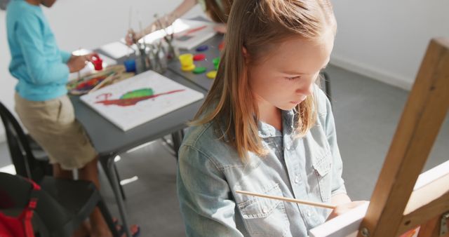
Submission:
[[[44,170],[39,161],[34,158],[27,140],[27,136],[13,114],[0,102],[0,117],[6,130],[6,140],[11,159],[18,175],[39,182]]]

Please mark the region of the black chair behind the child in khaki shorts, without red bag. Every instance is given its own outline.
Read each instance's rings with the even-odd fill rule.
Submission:
[[[4,123],[11,159],[18,175],[39,182],[44,175],[52,175],[48,156],[32,137],[25,135],[13,114],[0,102],[0,117]]]

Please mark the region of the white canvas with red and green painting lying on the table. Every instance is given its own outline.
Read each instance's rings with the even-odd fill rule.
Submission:
[[[120,100],[122,95],[142,88],[152,88],[155,97]],[[81,100],[121,130],[126,131],[201,100],[203,96],[202,93],[182,86],[161,74],[148,71],[83,95]],[[133,104],[135,101],[138,102]],[[123,105],[123,102],[131,104]]]

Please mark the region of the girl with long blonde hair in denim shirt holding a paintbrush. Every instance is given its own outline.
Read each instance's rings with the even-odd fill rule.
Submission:
[[[227,24],[217,77],[179,150],[187,236],[307,236],[364,203],[347,196],[332,109],[315,84],[337,29],[330,0],[235,0]]]

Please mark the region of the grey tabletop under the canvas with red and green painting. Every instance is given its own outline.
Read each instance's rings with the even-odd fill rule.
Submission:
[[[169,70],[163,76],[200,93],[206,93],[206,90]],[[76,119],[85,128],[100,156],[120,154],[140,144],[185,128],[186,122],[194,117],[203,103],[203,100],[196,101],[125,132],[84,104],[79,96],[70,96],[70,100],[74,105]]]

